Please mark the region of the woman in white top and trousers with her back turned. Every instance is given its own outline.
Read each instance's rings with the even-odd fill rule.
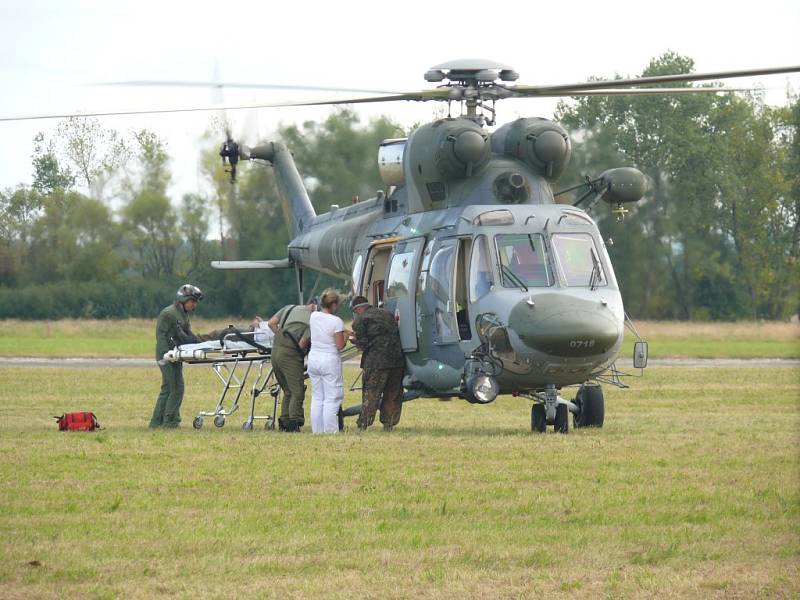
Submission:
[[[308,377],[311,379],[311,431],[337,433],[339,407],[344,400],[344,379],[339,350],[347,343],[344,322],[336,316],[339,294],[326,290],[320,310],[311,314],[309,331],[311,352]]]

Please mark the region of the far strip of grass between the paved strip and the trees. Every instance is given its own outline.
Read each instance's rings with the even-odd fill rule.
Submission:
[[[240,324],[242,324],[240,322]],[[194,321],[198,332],[228,325],[227,321]],[[648,340],[650,356],[718,358],[798,358],[800,326],[790,323],[680,323],[642,321],[636,324]],[[0,321],[0,356],[151,357],[155,322]],[[632,354],[628,335],[622,356]]]

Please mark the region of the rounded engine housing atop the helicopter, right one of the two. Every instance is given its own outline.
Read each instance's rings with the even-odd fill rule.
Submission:
[[[567,130],[549,119],[517,119],[492,134],[492,151],[516,158],[547,180],[558,179],[569,164],[572,143]]]

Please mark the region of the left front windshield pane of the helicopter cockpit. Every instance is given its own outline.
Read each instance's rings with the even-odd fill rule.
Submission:
[[[495,236],[504,287],[549,287],[553,273],[547,262],[542,236],[515,233]]]

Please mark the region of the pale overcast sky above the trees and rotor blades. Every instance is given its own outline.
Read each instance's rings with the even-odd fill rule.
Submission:
[[[489,58],[516,69],[519,83],[637,75],[673,50],[697,71],[800,64],[800,2],[553,2],[428,0],[365,2],[77,2],[0,0],[0,115],[208,104],[210,91],[92,87],[133,79],[210,80],[415,91],[432,65]],[[799,76],[763,77],[770,103],[785,101]],[[234,92],[224,101],[330,97],[308,92]],[[501,103],[500,119],[552,117],[553,100]],[[357,109],[364,118],[428,120],[431,103]],[[323,119],[330,109],[231,113],[251,141],[280,123]],[[108,117],[120,131],[152,129],[167,140],[177,194],[203,184],[199,137],[208,114]],[[32,139],[55,121],[0,123],[0,189],[30,183]],[[254,130],[260,133],[256,135]],[[347,191],[343,192],[347,196]]]

